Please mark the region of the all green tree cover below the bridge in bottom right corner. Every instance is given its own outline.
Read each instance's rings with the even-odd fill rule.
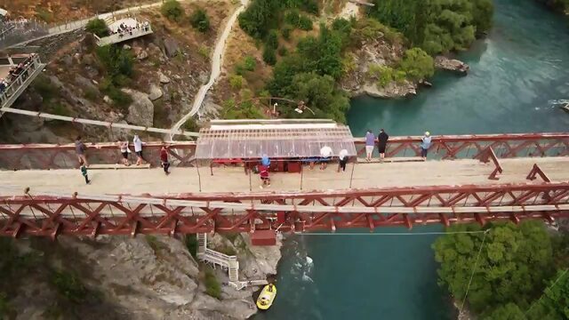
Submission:
[[[569,318],[569,235],[551,236],[541,221],[448,231],[433,249],[439,284],[459,305],[466,296],[469,310],[484,319]]]

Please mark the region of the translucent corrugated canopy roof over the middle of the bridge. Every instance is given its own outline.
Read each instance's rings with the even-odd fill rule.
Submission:
[[[324,146],[357,156],[349,127],[332,120],[213,120],[200,130],[196,159],[315,157]]]

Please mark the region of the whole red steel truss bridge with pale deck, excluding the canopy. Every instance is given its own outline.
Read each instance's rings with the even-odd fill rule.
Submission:
[[[168,177],[160,168],[90,170],[88,186],[73,145],[1,145],[0,236],[373,230],[569,217],[569,133],[435,136],[428,161],[406,161],[419,155],[419,140],[391,138],[386,156],[394,162],[276,172],[265,189],[235,164],[199,164],[193,142],[167,144]],[[356,144],[364,152],[363,140]],[[162,145],[148,143],[146,156],[158,159]],[[94,166],[119,161],[114,144],[88,147]]]

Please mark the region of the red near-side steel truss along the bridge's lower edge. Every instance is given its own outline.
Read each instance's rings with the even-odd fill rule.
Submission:
[[[0,236],[315,231],[569,217],[569,183],[309,193],[5,196]]]

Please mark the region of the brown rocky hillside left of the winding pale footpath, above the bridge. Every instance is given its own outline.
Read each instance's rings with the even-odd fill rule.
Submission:
[[[191,108],[194,95],[207,81],[210,52],[235,5],[222,0],[196,1],[184,3],[182,8],[185,18],[180,21],[168,20],[156,10],[142,12],[139,18],[149,20],[155,33],[122,44],[100,48],[89,34],[54,44],[57,50],[47,52],[50,62],[44,75],[36,79],[15,108],[169,128]],[[200,8],[210,20],[205,32],[192,28],[188,18]],[[42,45],[44,50],[50,47]],[[123,61],[131,62],[123,66]],[[80,132],[98,140],[115,140],[124,134],[57,121],[30,124],[32,119],[21,116],[7,115],[2,121],[4,131],[13,133],[4,135],[4,140],[11,142],[69,140]],[[45,132],[44,127],[54,134]]]

